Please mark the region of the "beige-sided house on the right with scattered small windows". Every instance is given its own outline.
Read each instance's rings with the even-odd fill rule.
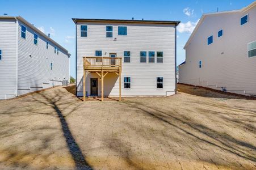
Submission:
[[[240,10],[203,14],[179,65],[179,83],[256,94],[256,2]]]

